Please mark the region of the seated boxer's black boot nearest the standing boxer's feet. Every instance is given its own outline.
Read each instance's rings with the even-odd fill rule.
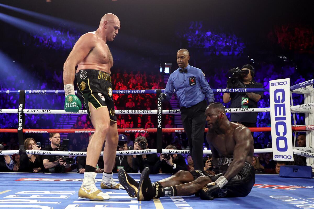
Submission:
[[[118,178],[120,184],[127,191],[130,197],[136,197],[138,193],[138,182],[125,172],[124,169],[119,169]]]

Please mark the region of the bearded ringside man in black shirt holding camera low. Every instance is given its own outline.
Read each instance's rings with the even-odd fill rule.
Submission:
[[[60,134],[59,133],[49,133],[50,145],[47,145],[44,149],[46,151],[68,151],[68,148],[62,147],[60,149]],[[69,168],[71,164],[67,164],[62,157],[56,155],[43,155],[43,164],[49,172],[63,172],[63,167]]]

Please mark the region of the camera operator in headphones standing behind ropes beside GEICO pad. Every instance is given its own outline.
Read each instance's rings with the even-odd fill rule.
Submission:
[[[243,65],[241,72],[238,68],[230,71],[238,79],[228,79],[227,88],[263,88],[263,84],[253,80],[255,71],[252,65]],[[257,102],[263,98],[263,94],[264,92],[224,93],[223,99],[225,103],[231,101],[230,108],[257,108]],[[256,127],[257,112],[233,112],[230,121],[246,127]]]

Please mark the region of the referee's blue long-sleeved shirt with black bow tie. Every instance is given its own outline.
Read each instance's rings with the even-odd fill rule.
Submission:
[[[199,68],[187,65],[187,73],[180,73],[178,68],[171,73],[166,85],[165,94],[169,101],[173,91],[176,90],[176,95],[179,100],[180,107],[192,107],[205,98],[212,99],[214,102],[214,93],[205,79],[203,71]],[[182,69],[183,70],[183,69]]]

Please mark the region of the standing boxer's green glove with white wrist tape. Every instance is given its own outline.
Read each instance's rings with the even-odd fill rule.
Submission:
[[[66,84],[64,85],[65,92],[65,101],[64,101],[64,110],[65,112],[78,112],[82,103],[79,98],[75,95],[74,85]]]

